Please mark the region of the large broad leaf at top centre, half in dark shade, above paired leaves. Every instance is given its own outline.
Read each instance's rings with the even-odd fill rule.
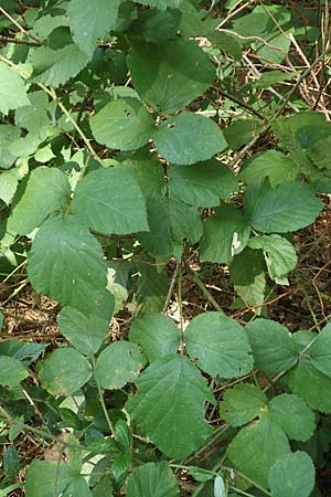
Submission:
[[[139,44],[127,61],[135,89],[148,106],[162,114],[185,107],[215,80],[209,55],[186,40]]]

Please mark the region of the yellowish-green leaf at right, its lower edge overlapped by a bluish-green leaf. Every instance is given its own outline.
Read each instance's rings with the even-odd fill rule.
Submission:
[[[266,150],[244,161],[239,178],[249,184],[254,183],[257,177],[267,177],[275,188],[277,184],[296,180],[298,175],[298,166],[289,156],[277,150]]]

